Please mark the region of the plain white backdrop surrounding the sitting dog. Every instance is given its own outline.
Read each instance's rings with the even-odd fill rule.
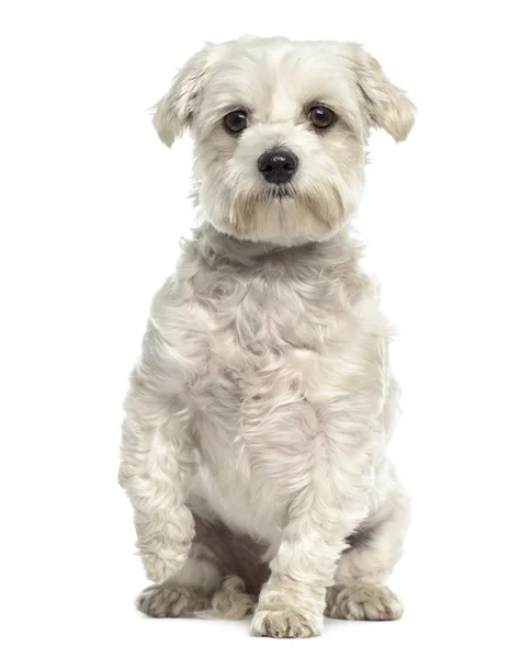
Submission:
[[[508,655],[508,48],[504,2],[2,3],[3,656]],[[204,41],[360,41],[419,107],[372,139],[357,220],[399,328],[392,446],[414,497],[397,623],[265,640],[149,620],[116,484],[122,399],[191,224],[188,138],[147,109]],[[290,643],[290,644],[289,644]]]

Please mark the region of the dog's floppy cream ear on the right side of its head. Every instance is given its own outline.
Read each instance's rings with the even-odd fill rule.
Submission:
[[[396,141],[403,141],[414,126],[416,106],[391,82],[374,57],[362,46],[352,46],[354,73],[367,124],[384,128]]]

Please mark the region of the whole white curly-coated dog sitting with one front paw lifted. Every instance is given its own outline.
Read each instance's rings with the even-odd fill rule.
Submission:
[[[349,219],[370,128],[405,139],[414,113],[361,46],[285,38],[205,46],[157,104],[167,146],[194,137],[202,223],[126,400],[147,614],[253,612],[272,637],[401,614],[397,385]]]

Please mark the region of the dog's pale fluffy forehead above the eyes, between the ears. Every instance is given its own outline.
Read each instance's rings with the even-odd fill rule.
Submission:
[[[349,59],[336,44],[235,42],[217,53],[206,97],[217,110],[240,106],[278,121],[314,101],[353,111],[353,90]]]

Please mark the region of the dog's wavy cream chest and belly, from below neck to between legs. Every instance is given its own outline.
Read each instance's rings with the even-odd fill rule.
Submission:
[[[330,282],[217,280],[199,290],[207,367],[193,394],[203,476],[229,513],[278,518],[304,483],[320,413],[340,393],[352,319]],[[324,386],[324,382],[326,383]],[[335,386],[336,384],[336,386]]]

